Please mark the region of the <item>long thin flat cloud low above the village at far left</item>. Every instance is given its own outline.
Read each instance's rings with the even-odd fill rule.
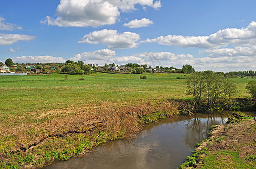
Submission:
[[[14,57],[12,60],[15,63],[65,63],[63,57],[53,56],[20,56]]]

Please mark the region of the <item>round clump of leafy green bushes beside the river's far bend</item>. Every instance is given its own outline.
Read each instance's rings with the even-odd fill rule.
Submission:
[[[186,79],[187,95],[191,95],[195,107],[207,104],[208,109],[223,106],[236,92],[233,81],[221,74],[201,72],[191,74]]]

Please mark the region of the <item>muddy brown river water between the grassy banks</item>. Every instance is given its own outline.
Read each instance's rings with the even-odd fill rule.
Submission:
[[[52,168],[177,168],[195,145],[207,138],[212,125],[225,123],[219,115],[172,117],[147,124],[134,139],[110,141],[91,153]]]

